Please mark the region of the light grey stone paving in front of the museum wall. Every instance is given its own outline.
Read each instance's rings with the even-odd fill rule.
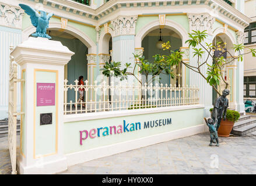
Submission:
[[[0,138],[0,174],[10,174],[7,138]],[[256,174],[256,133],[220,137],[209,133],[163,142],[71,166],[60,174]]]

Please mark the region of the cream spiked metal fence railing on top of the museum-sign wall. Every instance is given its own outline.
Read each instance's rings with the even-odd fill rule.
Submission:
[[[67,83],[65,80],[64,115],[199,104],[199,89],[195,86],[108,85],[104,81],[89,85],[87,80],[84,85],[78,85],[78,80],[75,80],[75,85]]]

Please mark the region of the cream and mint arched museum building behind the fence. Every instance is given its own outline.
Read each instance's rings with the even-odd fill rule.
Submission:
[[[132,53],[144,55],[148,60],[153,60],[156,53],[164,54],[156,47],[160,28],[163,40],[171,42],[173,51],[184,51],[184,59],[193,65],[197,61],[185,43],[192,30],[207,30],[207,42],[226,41],[227,47],[232,49],[233,44],[244,42],[244,28],[251,22],[244,15],[244,1],[238,0],[1,0],[0,119],[8,117],[9,47],[16,47],[36,31],[19,3],[54,13],[47,33],[52,40],[61,41],[75,53],[65,66],[64,76],[69,84],[79,76],[89,84],[104,81],[106,77],[101,76],[100,71],[104,64],[110,60],[122,62],[122,65],[135,64]],[[206,69],[202,71],[206,73]],[[240,90],[244,85],[244,65],[234,62],[224,73],[231,82],[230,107],[243,112],[243,92]],[[212,87],[185,67],[177,67],[176,77],[173,80],[162,76],[161,83],[197,85],[200,103],[205,105],[206,113],[216,97]],[[132,81],[132,78],[128,79],[128,83]],[[68,93],[68,101],[73,99],[75,96]],[[95,99],[93,92],[89,99]]]

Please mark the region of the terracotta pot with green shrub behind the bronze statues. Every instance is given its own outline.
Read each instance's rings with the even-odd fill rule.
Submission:
[[[210,109],[211,115],[213,112],[213,109]],[[220,137],[229,137],[230,132],[232,131],[232,128],[234,126],[234,123],[238,121],[240,118],[240,114],[237,111],[234,110],[227,110],[226,120],[220,122],[220,127],[218,130],[218,135]]]

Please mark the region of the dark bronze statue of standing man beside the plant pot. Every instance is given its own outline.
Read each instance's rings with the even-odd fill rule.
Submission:
[[[226,120],[227,115],[227,108],[229,108],[229,99],[226,98],[227,95],[230,94],[230,91],[228,89],[223,90],[222,96],[216,99],[214,108],[213,108],[213,119],[216,122],[217,121],[217,128],[218,131],[220,126],[220,121]]]

